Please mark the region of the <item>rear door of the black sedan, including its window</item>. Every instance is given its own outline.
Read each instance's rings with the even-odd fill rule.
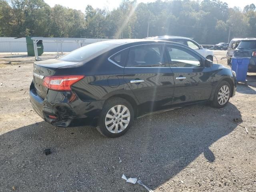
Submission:
[[[174,78],[166,60],[163,44],[129,48],[124,80],[144,112],[161,110],[172,104]]]

